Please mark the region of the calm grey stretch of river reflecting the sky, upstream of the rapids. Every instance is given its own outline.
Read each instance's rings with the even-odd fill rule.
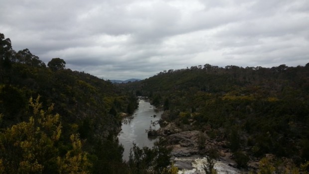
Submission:
[[[152,148],[156,138],[148,138],[146,129],[152,126],[152,129],[159,129],[159,124],[153,124],[161,118],[163,111],[155,109],[147,100],[139,99],[139,108],[130,117],[122,121],[121,132],[118,135],[119,143],[124,146],[123,159],[129,160],[130,149],[135,143],[142,148],[147,146]],[[156,116],[154,116],[156,115]]]

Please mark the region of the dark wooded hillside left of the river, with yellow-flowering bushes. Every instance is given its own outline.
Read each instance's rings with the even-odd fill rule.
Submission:
[[[116,139],[137,99],[110,82],[46,67],[0,34],[0,173],[112,173],[127,169]],[[120,173],[120,172],[119,172]]]

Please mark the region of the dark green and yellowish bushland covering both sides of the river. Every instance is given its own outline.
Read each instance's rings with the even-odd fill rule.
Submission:
[[[53,58],[46,66],[28,49],[16,52],[0,33],[0,173],[176,173],[164,139],[175,132],[167,129],[154,148],[134,146],[129,161],[122,160],[117,135],[137,95],[162,107],[162,129],[198,131],[199,154],[231,153],[237,167],[252,173],[309,172],[309,64],[206,64],[129,84],[65,64]]]

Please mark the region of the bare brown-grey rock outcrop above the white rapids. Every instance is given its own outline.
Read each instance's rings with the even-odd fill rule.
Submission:
[[[159,130],[150,130],[149,136],[164,136],[167,140],[167,147],[171,148],[171,155],[175,159],[189,158],[192,160],[183,161],[176,160],[175,166],[182,170],[192,170],[195,167],[192,166],[194,157],[200,158],[207,156],[213,156],[217,158],[220,164],[226,164],[228,168],[237,167],[237,163],[234,160],[233,153],[228,148],[228,142],[222,137],[224,135],[224,129],[219,128],[219,135],[215,138],[209,138],[206,134],[211,130],[210,125],[206,125],[205,132],[192,130],[190,125],[182,125],[179,128],[174,122],[164,121],[163,125]],[[160,124],[161,125],[161,124]],[[218,162],[219,163],[219,162]],[[249,167],[253,170],[258,168],[258,162],[249,163]],[[222,166],[221,166],[222,168]],[[233,170],[232,170],[233,171]],[[247,170],[245,170],[247,172]],[[235,172],[236,174],[237,172]]]

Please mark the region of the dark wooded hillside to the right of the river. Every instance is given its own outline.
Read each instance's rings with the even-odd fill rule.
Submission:
[[[165,110],[165,124],[200,130],[223,142],[238,167],[268,160],[265,168],[278,173],[308,165],[309,64],[273,68],[206,64],[160,72],[129,85]]]

